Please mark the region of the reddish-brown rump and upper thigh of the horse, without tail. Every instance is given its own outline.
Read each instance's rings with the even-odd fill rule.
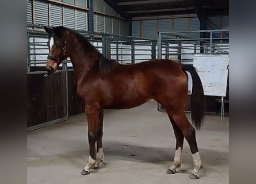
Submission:
[[[172,60],[159,60],[148,78],[151,80],[148,91],[153,99],[173,113],[184,112],[188,94],[188,77],[179,63]]]

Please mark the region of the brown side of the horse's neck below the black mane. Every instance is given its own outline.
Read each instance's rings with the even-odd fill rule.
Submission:
[[[99,53],[88,41],[82,44],[75,34],[70,33],[68,36],[67,56],[70,57],[78,79],[98,65]]]

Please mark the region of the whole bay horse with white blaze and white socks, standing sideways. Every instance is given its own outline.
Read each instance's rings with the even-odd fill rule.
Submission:
[[[134,108],[154,99],[166,109],[176,138],[174,161],[166,173],[174,174],[176,168],[181,167],[185,137],[194,164],[190,178],[198,178],[202,162],[198,153],[196,133],[184,112],[188,93],[188,71],[193,81],[190,102],[192,122],[196,129],[200,129],[204,117],[204,91],[193,66],[167,59],[119,64],[116,60],[106,59],[86,37],[74,30],[64,26],[44,26],[44,29],[49,34],[47,75],[56,72],[59,64],[70,57],[78,81],[77,93],[85,103],[90,154],[81,174],[90,174],[92,168],[98,168],[101,162],[104,163],[104,109]]]

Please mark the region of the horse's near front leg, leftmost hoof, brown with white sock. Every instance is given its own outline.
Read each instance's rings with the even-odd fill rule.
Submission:
[[[87,116],[88,122],[88,140],[90,146],[90,155],[87,165],[83,168],[81,174],[86,175],[90,174],[90,169],[96,163],[96,151],[95,151],[95,142],[97,140],[97,125],[98,125],[98,114],[100,112],[99,105],[86,105],[85,113]]]

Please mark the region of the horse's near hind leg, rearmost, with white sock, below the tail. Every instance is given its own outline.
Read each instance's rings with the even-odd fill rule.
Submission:
[[[185,139],[188,141],[190,151],[192,153],[194,170],[189,178],[197,179],[198,173],[202,168],[202,162],[201,162],[201,159],[199,156],[197,142],[196,142],[196,131],[190,124],[188,118],[186,118],[186,115],[183,111],[179,112],[179,113],[173,113],[172,117],[173,117],[173,120],[175,121],[177,127],[181,130]]]

